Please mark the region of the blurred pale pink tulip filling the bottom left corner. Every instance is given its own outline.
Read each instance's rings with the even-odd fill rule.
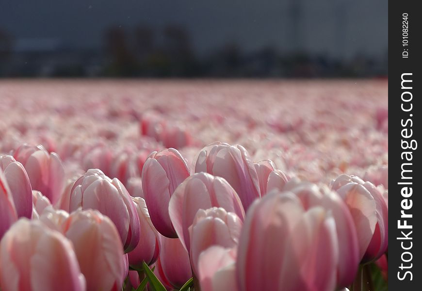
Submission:
[[[3,291],[84,291],[73,245],[39,221],[21,218],[0,242]]]

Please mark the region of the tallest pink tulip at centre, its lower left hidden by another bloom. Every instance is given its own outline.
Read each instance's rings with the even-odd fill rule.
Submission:
[[[204,147],[195,162],[195,173],[222,177],[239,195],[244,210],[261,197],[257,171],[243,146],[215,142]]]

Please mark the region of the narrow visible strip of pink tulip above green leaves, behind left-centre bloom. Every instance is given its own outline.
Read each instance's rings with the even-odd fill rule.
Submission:
[[[132,197],[138,212],[140,230],[140,239],[136,247],[128,254],[130,267],[136,270],[142,270],[142,263],[147,265],[154,263],[160,253],[161,234],[152,225],[146,208],[145,200],[141,197]]]

